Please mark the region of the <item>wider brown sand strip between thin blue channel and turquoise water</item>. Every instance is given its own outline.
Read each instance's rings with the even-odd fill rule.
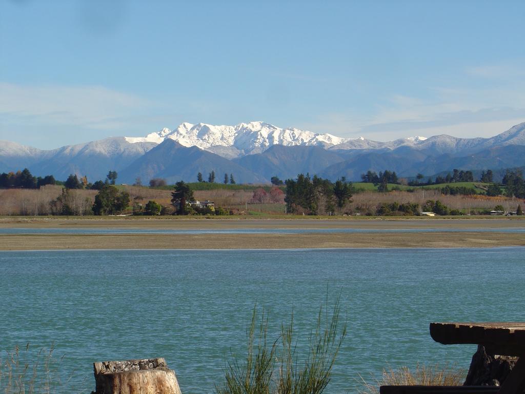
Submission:
[[[283,249],[525,246],[523,233],[28,234],[0,236],[0,250]]]

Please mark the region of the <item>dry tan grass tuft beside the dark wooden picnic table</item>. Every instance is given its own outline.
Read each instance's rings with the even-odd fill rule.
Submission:
[[[383,369],[380,379],[372,383],[361,377],[361,394],[379,394],[380,386],[461,386],[465,380],[465,370],[455,365],[438,364],[433,366],[417,365],[415,370],[408,367]]]

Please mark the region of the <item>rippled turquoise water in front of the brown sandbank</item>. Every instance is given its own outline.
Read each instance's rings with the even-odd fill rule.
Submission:
[[[524,252],[0,252],[0,346],[54,342],[72,374],[64,392],[95,388],[93,361],[162,356],[183,393],[207,393],[229,349],[243,349],[254,304],[269,310],[270,337],[292,305],[305,334],[328,286],[349,334],[327,392],[356,392],[359,374],[384,367],[468,367],[475,346],[434,343],[430,322],[525,320]]]

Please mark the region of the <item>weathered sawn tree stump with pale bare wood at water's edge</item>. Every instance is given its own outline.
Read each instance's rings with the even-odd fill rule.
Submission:
[[[163,358],[93,363],[96,394],[181,394]]]

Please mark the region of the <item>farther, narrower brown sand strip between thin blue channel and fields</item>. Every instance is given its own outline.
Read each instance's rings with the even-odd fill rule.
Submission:
[[[525,227],[525,216],[281,216],[261,219],[253,216],[3,216],[0,229],[179,229],[179,230],[217,230],[217,229],[511,229]]]

